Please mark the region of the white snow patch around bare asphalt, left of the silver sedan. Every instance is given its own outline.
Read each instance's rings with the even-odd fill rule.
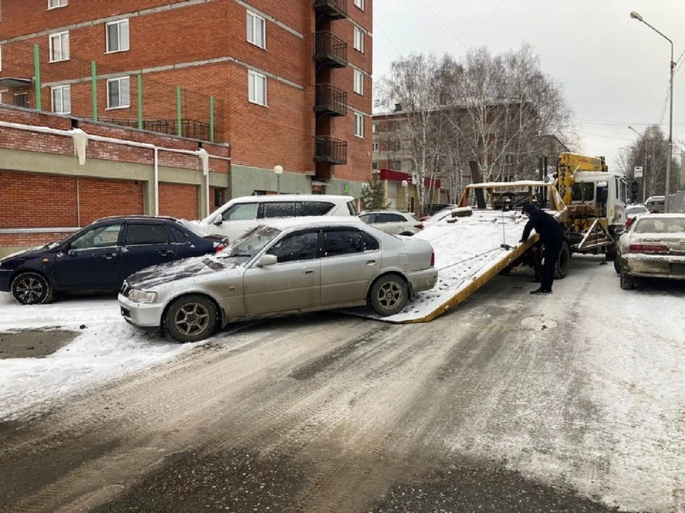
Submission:
[[[0,421],[39,413],[88,387],[196,347],[134,330],[121,318],[114,298],[25,306],[0,293],[0,312],[0,332],[55,327],[78,332],[71,343],[46,357],[0,360]]]

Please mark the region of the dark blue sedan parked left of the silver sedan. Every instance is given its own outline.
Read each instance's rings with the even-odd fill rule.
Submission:
[[[225,247],[188,221],[153,216],[104,218],[73,235],[0,260],[0,290],[23,305],[62,292],[116,292],[136,271]]]

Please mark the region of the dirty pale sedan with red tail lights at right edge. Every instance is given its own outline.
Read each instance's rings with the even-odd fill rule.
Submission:
[[[614,266],[621,288],[635,278],[685,280],[685,214],[644,214],[621,235]]]

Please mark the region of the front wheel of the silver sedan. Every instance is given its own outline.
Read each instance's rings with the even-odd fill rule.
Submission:
[[[174,301],[166,312],[164,325],[178,342],[199,342],[216,329],[214,304],[201,295],[187,295]]]

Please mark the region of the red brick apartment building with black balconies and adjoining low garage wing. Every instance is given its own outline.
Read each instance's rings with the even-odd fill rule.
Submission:
[[[210,173],[211,207],[275,193],[276,166],[284,169],[282,193],[358,198],[372,162],[371,27],[372,0],[2,0],[0,123],[71,125],[168,148],[212,146],[215,155],[225,148],[230,168]],[[39,108],[54,116],[38,115]],[[182,137],[161,141],[153,132]],[[17,146],[19,133],[43,144]],[[57,174],[36,155],[54,153],[55,137],[0,124],[0,230],[15,228],[7,215],[17,208],[29,209],[26,228],[55,226],[49,213]],[[150,171],[148,153],[140,164]],[[96,158],[116,160],[107,152]],[[59,178],[86,178],[78,165],[75,158],[62,164]],[[97,178],[110,180],[110,191],[124,191],[133,175],[116,167]],[[187,171],[198,173],[197,164]],[[181,205],[190,194],[197,205],[192,217],[205,213],[210,193],[197,177],[170,173],[169,183],[194,189],[177,187],[178,197],[165,201]],[[41,208],[14,204],[6,192],[31,180]],[[163,189],[158,198],[136,199],[129,213],[154,213]],[[187,207],[183,213],[190,214]]]

